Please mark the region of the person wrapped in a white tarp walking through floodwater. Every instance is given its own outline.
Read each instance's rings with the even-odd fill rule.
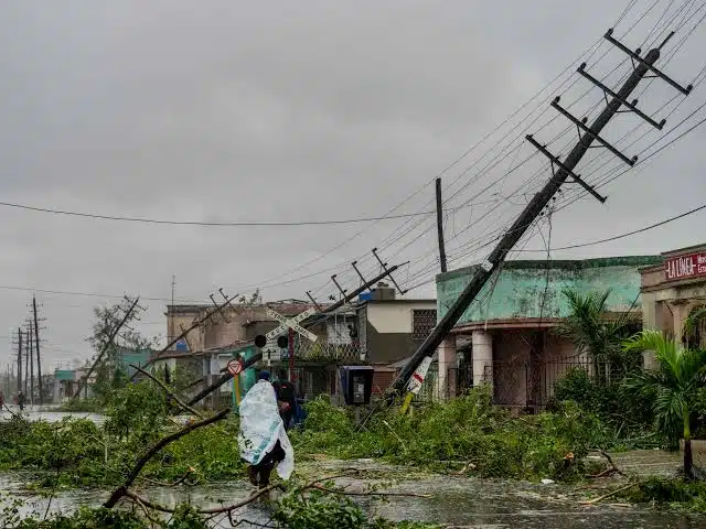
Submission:
[[[279,413],[268,371],[260,371],[257,384],[240,402],[239,413],[238,446],[240,457],[250,464],[250,483],[259,488],[267,487],[275,468],[279,477],[289,479],[295,469],[295,451]]]

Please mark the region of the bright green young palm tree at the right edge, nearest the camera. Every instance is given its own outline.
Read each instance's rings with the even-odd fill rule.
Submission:
[[[624,343],[625,350],[654,352],[659,369],[645,369],[624,381],[629,393],[652,402],[657,430],[671,438],[684,439],[684,474],[694,477],[692,456],[692,403],[706,382],[706,350],[682,347],[657,331],[643,331]]]

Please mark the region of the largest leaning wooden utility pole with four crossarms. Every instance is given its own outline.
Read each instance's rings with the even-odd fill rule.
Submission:
[[[628,100],[628,97],[637,88],[637,86],[640,84],[640,80],[645,76],[645,74],[648,74],[648,72],[651,72],[654,77],[660,77],[666,80],[670,85],[674,86],[685,95],[687,95],[691,91],[692,89],[691,86],[683,88],[682,86],[676,84],[674,80],[668,78],[665,74],[663,74],[661,71],[656,69],[653,66],[655,61],[660,57],[660,50],[673,36],[673,34],[674,33],[672,32],[666,37],[666,40],[660,45],[659,48],[650,50],[650,52],[648,52],[644,58],[640,56],[641,50],[638,50],[637,52],[632,52],[631,50],[625,47],[623,44],[616,41],[612,37],[612,30],[609,30],[606,33],[606,35],[603,35],[606,40],[608,40],[613,45],[616,45],[617,47],[625,52],[628,55],[630,55],[630,57],[632,58],[632,65],[633,65],[632,74],[630,75],[628,80],[625,80],[624,85],[622,85],[620,90],[618,90],[618,93],[611,91],[608,87],[601,85],[598,82],[595,83],[600,88],[603,89],[608,106],[596,118],[596,120],[592,122],[590,128],[586,126],[587,118],[577,120],[570,117],[570,119],[575,121],[577,128],[579,129],[579,140],[576,147],[574,147],[571,152],[569,152],[569,154],[566,156],[566,160],[564,162],[559,161],[558,158],[552,155],[546,150],[546,148],[542,147],[538,142],[536,142],[532,138],[532,136],[526,137],[526,139],[531,143],[533,143],[537,149],[539,149],[552,161],[552,171],[553,171],[552,179],[549,180],[549,182],[546,183],[546,185],[542,188],[542,191],[539,191],[532,198],[530,204],[527,204],[527,206],[520,214],[517,219],[513,223],[512,227],[505,233],[505,235],[502,237],[498,246],[490,253],[488,259],[475,271],[475,273],[471,278],[471,281],[468,283],[463,292],[461,292],[459,298],[449,307],[449,311],[437,324],[437,326],[434,328],[431,334],[429,334],[427,339],[425,339],[425,342],[416,350],[416,353],[413,355],[413,357],[407,363],[407,365],[403,368],[402,373],[399,374],[399,377],[397,377],[397,379],[395,380],[392,387],[393,392],[402,392],[404,388],[407,386],[409,378],[415,373],[415,369],[419,366],[419,364],[421,364],[421,360],[426,357],[434,355],[434,352],[441,344],[441,342],[449,334],[449,332],[453,328],[458,320],[461,317],[463,312],[466,312],[466,310],[471,304],[471,302],[475,299],[475,296],[480,293],[481,289],[490,279],[490,277],[493,274],[493,272],[498,270],[499,266],[507,257],[507,253],[513,249],[513,247],[522,238],[522,236],[534,223],[534,220],[541,215],[542,210],[547,206],[552,197],[556,194],[557,191],[559,191],[559,187],[561,187],[561,184],[564,184],[564,182],[566,182],[567,179],[571,177],[575,182],[580,184],[595,197],[597,197],[601,202],[605,201],[602,196],[596,193],[593,187],[589,186],[586,182],[584,182],[579,177],[579,175],[574,173],[574,169],[576,168],[578,162],[581,160],[584,154],[586,154],[586,151],[588,151],[588,149],[591,147],[591,144],[593,143],[593,140],[597,140],[603,147],[608,148],[611,152],[616,153],[619,158],[623,159],[623,161],[627,161],[627,163],[629,163],[630,165],[634,164],[637,158],[628,159],[627,156],[623,156],[622,153],[618,152],[612,145],[610,145],[599,134],[600,134],[600,131],[603,129],[603,127],[608,125],[608,121],[610,121],[610,118],[612,118],[616,115],[616,112],[620,110],[620,107],[622,106],[629,108],[630,110],[634,111],[641,117],[644,116],[642,112],[637,110],[635,108],[637,101],[630,102]],[[586,65],[582,64],[578,69],[579,73],[581,73],[581,75],[584,75],[582,71],[585,67]],[[609,94],[612,96],[610,101],[608,101]],[[555,108],[558,107],[558,98],[555,99],[553,106],[555,106]],[[561,114],[568,115],[568,112],[566,111],[561,111]],[[661,125],[664,125],[663,122],[656,123],[653,120],[648,120],[648,121],[651,125],[656,126],[657,128],[661,128]],[[581,136],[581,131],[584,131],[582,136]],[[555,170],[555,165],[558,169]]]

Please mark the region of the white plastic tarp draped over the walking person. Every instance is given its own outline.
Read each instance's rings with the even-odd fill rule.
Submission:
[[[252,465],[257,465],[278,440],[285,451],[285,460],[277,465],[277,474],[282,479],[289,479],[295,469],[295,451],[279,417],[275,388],[268,381],[260,380],[240,402],[240,456]]]

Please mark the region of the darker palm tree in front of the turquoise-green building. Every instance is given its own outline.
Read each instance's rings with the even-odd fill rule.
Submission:
[[[569,303],[570,314],[555,333],[570,339],[578,354],[589,356],[598,382],[605,384],[608,379],[607,366],[621,367],[624,359],[621,344],[631,334],[632,321],[627,313],[620,319],[608,317],[610,290],[584,295],[566,289],[563,294]]]

